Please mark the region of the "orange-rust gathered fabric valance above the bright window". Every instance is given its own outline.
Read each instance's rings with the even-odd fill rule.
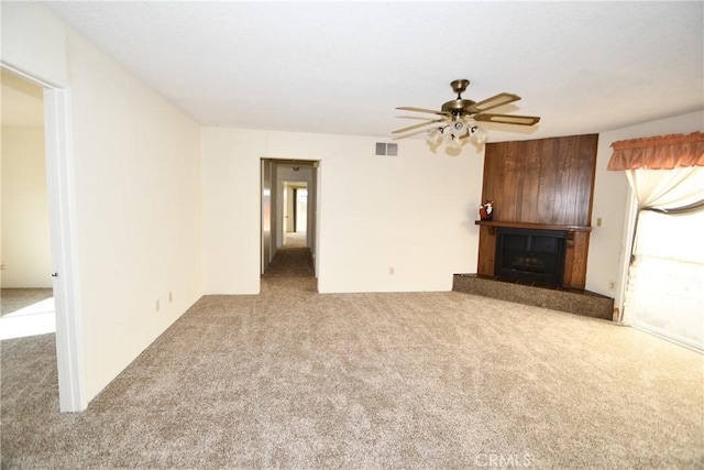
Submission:
[[[704,166],[704,132],[631,139],[612,143],[607,170],[672,170]]]

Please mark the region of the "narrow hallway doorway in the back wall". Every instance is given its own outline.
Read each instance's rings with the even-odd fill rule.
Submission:
[[[293,259],[290,250],[300,249],[295,259],[308,266],[292,272],[317,272],[319,162],[262,159],[262,265],[264,275],[278,254]],[[289,250],[284,253],[285,250]],[[302,263],[304,261],[301,261]],[[306,270],[304,270],[306,267]],[[270,272],[271,274],[271,272]]]

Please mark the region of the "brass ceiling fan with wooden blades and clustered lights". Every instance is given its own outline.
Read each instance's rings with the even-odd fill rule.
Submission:
[[[518,101],[520,97],[514,94],[502,92],[480,102],[475,102],[471,99],[462,98],[462,94],[466,90],[469,85],[470,80],[464,78],[450,83],[452,90],[458,94],[458,97],[457,99],[443,103],[440,111],[410,106],[396,108],[403,111],[432,113],[440,116],[440,118],[409,125],[407,128],[397,129],[392,133],[402,134],[427,125],[436,124],[428,132],[428,143],[437,145],[440,142],[446,141],[448,146],[459,147],[463,143],[462,139],[474,136],[477,143],[483,143],[486,140],[486,132],[480,129],[477,122],[534,125],[540,121],[540,118],[536,116],[512,116],[486,112],[490,109]]]

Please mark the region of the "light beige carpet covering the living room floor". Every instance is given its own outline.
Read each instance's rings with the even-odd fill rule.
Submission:
[[[689,469],[702,356],[449,293],[206,296],[85,413],[54,336],[2,341],[3,468]]]

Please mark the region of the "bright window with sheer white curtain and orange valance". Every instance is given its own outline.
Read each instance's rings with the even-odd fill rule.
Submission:
[[[615,142],[638,200],[622,320],[704,351],[704,134]],[[658,168],[658,170],[653,170]]]

